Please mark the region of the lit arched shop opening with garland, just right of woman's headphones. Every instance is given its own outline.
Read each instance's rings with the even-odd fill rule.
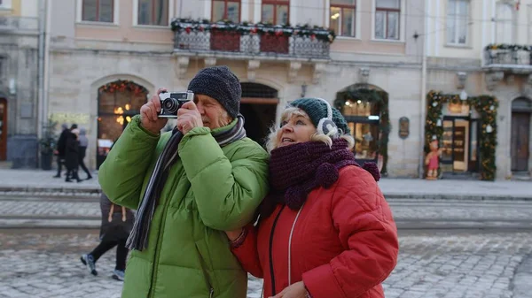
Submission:
[[[334,106],[348,121],[355,139],[356,162],[377,163],[386,175],[390,129],[387,92],[368,84],[354,84],[336,94]]]

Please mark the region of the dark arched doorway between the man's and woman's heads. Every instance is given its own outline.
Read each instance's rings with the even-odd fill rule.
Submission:
[[[247,136],[264,146],[270,133],[270,126],[275,123],[278,91],[258,83],[241,83],[242,100],[240,113],[246,118],[244,128]]]

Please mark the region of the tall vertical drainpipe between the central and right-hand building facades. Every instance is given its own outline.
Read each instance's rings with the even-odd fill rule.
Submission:
[[[428,14],[428,2],[432,0],[426,0],[425,2],[425,32],[426,27],[429,21]],[[425,172],[425,114],[426,114],[426,34],[423,34],[423,61],[421,63],[421,96],[420,101],[420,115],[419,115],[419,140],[420,141],[420,152],[419,152],[419,179],[423,179],[423,173]]]

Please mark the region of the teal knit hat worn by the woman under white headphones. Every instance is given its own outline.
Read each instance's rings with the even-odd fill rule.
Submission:
[[[300,98],[296,99],[293,102],[289,103],[290,106],[299,108],[309,115],[310,121],[314,126],[317,126],[321,118],[327,117],[327,103],[324,103],[322,100],[317,98]],[[336,108],[332,109],[332,122],[341,129],[343,134],[350,134],[348,123],[346,119],[341,115],[340,111]]]

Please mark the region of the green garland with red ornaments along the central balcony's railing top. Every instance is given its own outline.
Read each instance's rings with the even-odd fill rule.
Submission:
[[[287,25],[272,25],[266,23],[252,24],[249,22],[233,23],[230,20],[221,20],[218,22],[210,22],[208,19],[173,19],[171,27],[174,32],[186,32],[190,34],[192,32],[205,32],[205,31],[224,31],[224,32],[236,32],[240,35],[247,34],[273,34],[277,36],[301,36],[308,37],[310,39],[317,39],[322,42],[332,43],[336,38],[334,30],[326,29],[324,27],[317,26],[295,26]]]

